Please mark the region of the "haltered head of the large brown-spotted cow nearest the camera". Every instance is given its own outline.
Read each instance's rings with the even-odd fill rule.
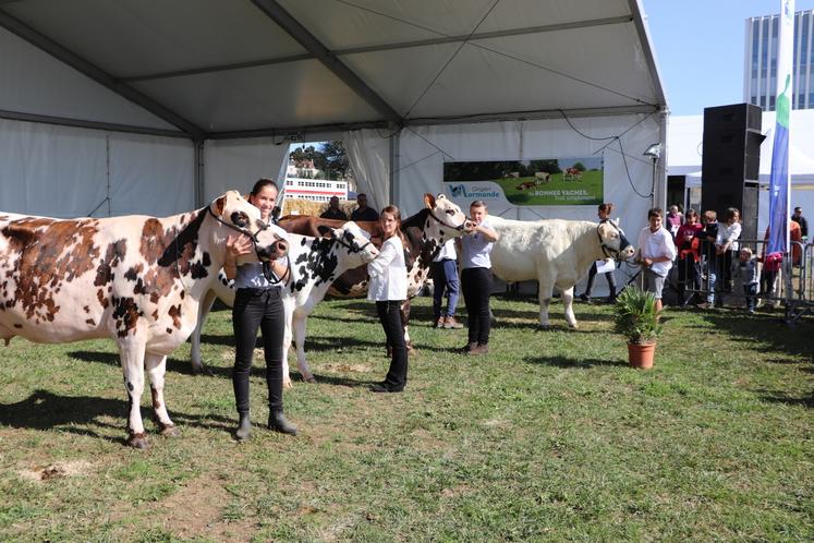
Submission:
[[[254,261],[274,261],[285,256],[289,242],[285,231],[264,221],[260,210],[250,204],[238,191],[229,191],[209,205],[209,213],[222,225],[221,241],[227,236],[247,236],[254,243],[254,254],[239,258],[239,264]]]

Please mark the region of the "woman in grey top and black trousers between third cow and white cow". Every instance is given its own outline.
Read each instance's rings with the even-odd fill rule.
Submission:
[[[469,312],[469,342],[466,354],[489,352],[489,295],[491,294],[491,258],[489,253],[498,233],[489,226],[486,203],[476,200],[470,205],[470,219],[461,240],[463,260],[461,286]]]

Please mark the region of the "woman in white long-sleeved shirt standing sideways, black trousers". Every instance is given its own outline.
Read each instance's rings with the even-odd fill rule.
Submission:
[[[381,209],[379,215],[384,243],[378,256],[367,265],[370,282],[367,299],[376,302],[387,345],[392,348],[390,370],[382,383],[370,387],[374,393],[400,393],[406,385],[408,350],[404,342],[404,323],[401,304],[406,300],[406,264],[404,243],[401,241],[401,212],[394,205]]]

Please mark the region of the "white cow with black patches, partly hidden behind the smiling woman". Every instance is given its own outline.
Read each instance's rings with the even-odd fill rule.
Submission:
[[[289,275],[282,303],[285,315],[285,334],[282,343],[283,386],[291,387],[288,352],[292,336],[296,347],[296,362],[303,378],[314,382],[305,359],[305,324],[308,315],[324,298],[333,280],[345,270],[373,261],[379,253],[368,236],[355,222],[345,222],[341,228],[330,229],[326,238],[312,238],[289,233]],[[215,298],[220,298],[230,307],[234,305],[233,282],[221,272],[218,280],[207,292],[201,305],[198,326],[192,336],[193,372],[203,372],[201,360],[201,329],[209,314]]]

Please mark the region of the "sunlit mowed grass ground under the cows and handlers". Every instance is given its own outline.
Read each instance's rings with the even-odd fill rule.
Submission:
[[[190,374],[169,361],[180,438],[123,446],[111,341],[35,346],[0,363],[2,541],[812,541],[810,317],[668,310],[656,367],[627,366],[609,306],[579,330],[536,328],[537,304],[494,299],[491,352],[455,352],[417,299],[408,389],[374,395],[388,360],[365,301],[321,303],[307,352],[319,384],[285,393],[296,437],[235,443],[230,313],[212,314]],[[292,364],[293,365],[293,364]],[[143,413],[149,420],[149,394]],[[155,424],[147,422],[148,432]]]

